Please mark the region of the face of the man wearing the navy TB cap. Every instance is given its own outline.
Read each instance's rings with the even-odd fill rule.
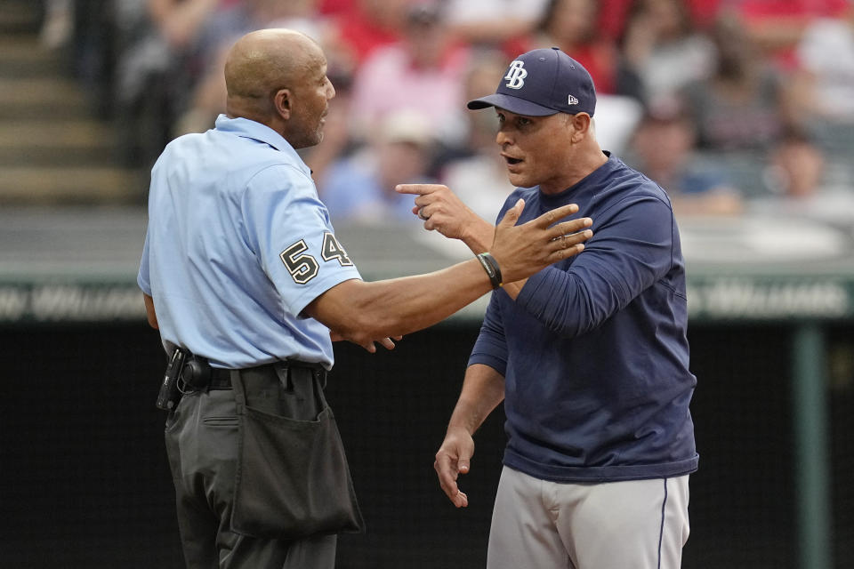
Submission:
[[[556,113],[548,116],[517,115],[495,108],[498,134],[495,141],[507,164],[508,177],[514,186],[539,186],[546,194],[568,188],[568,172],[578,132],[574,115]]]

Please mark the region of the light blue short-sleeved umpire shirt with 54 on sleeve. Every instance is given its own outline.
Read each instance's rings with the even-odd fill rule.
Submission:
[[[269,127],[221,115],[157,159],[137,282],[167,352],[182,346],[215,367],[290,358],[330,369],[329,330],[302,309],[353,278],[309,167]]]

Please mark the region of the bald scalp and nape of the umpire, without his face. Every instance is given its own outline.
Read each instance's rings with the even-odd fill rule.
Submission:
[[[300,32],[262,29],[246,34],[225,62],[228,114],[266,123],[275,113],[275,93],[294,88],[325,62],[317,42]]]

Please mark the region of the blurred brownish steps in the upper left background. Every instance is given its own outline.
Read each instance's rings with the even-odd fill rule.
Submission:
[[[0,205],[140,203],[145,180],[117,156],[117,134],[38,41],[39,3],[0,0]]]

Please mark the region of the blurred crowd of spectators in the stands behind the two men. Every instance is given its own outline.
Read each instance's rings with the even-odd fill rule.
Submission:
[[[602,148],[677,215],[813,216],[854,227],[854,0],[46,0],[42,39],[121,132],[129,164],[224,112],[222,60],[257,28],[314,37],[336,97],[301,151],[335,219],[410,220],[401,182],[487,219],[512,190],[495,114],[509,60],[558,46],[599,93]]]

